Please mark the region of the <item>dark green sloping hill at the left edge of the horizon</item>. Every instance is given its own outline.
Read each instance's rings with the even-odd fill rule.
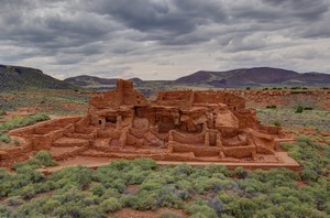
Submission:
[[[73,89],[72,84],[58,80],[40,69],[0,65],[0,90],[37,89]]]

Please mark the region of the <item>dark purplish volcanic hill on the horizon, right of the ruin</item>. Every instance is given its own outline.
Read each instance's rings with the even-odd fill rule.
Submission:
[[[210,85],[213,87],[245,87],[266,85],[329,85],[330,74],[305,73],[299,74],[293,70],[255,67],[241,68],[228,72],[197,72],[180,77],[175,84],[183,85]]]

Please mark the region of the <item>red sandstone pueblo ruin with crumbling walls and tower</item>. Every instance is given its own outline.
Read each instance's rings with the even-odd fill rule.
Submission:
[[[2,149],[0,165],[9,166],[48,150],[57,161],[75,156],[168,162],[262,163],[293,161],[277,151],[284,134],[264,127],[245,100],[226,91],[161,91],[148,100],[130,80],[94,95],[84,117],[67,117],[9,132],[22,146]],[[286,153],[285,153],[286,154]]]

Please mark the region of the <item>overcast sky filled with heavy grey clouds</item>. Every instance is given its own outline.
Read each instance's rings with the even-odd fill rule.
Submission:
[[[330,73],[330,0],[0,0],[0,64],[56,78]]]

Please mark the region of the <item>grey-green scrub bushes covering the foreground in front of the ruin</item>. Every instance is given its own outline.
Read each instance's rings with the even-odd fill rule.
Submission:
[[[330,215],[330,148],[306,137],[283,148],[304,170],[245,171],[153,160],[117,160],[97,170],[56,165],[46,151],[0,171],[0,217],[107,217],[122,208],[178,208],[191,217],[327,217]],[[161,217],[180,217],[175,212]]]

